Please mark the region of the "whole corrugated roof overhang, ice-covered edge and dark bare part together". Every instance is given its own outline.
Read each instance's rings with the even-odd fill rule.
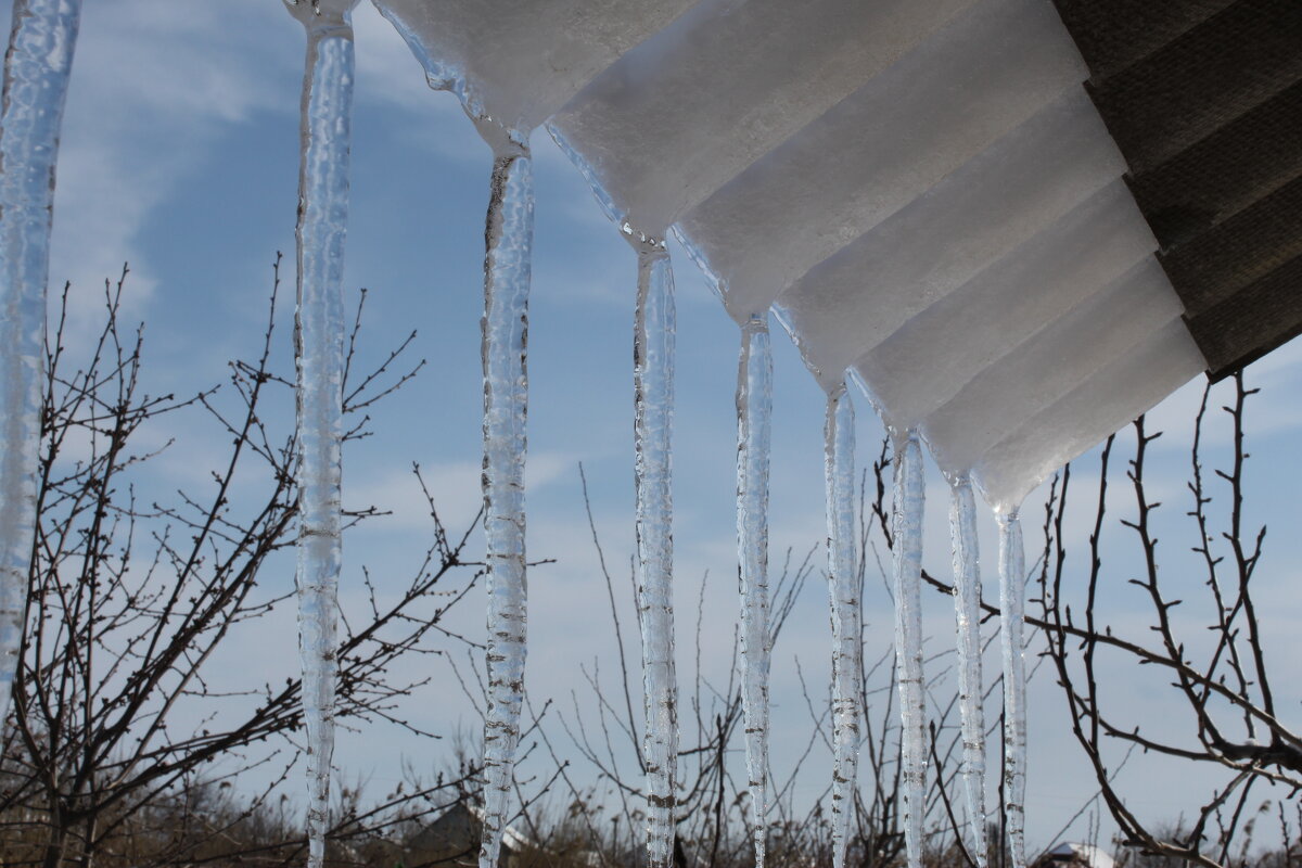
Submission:
[[[1297,0],[376,4],[995,505],[1302,332]]]

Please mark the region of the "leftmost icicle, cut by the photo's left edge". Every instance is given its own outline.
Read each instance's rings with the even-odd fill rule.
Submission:
[[[0,109],[0,726],[36,531],[46,282],[59,129],[81,0],[16,0]]]

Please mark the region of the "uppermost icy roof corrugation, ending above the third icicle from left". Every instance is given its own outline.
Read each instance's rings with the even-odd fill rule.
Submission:
[[[693,0],[375,0],[431,87],[527,133]]]

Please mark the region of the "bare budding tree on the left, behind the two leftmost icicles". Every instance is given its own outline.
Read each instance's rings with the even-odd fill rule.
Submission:
[[[98,341],[69,371],[64,292],[47,347],[39,527],[0,768],[7,865],[283,863],[302,847],[281,786],[301,756],[296,661],[268,666],[283,670],[280,682],[233,691],[214,682],[223,643],[292,605],[284,580],[267,582],[296,536],[292,379],[272,370],[279,263],[256,358],[233,362],[224,387],[191,397],[145,393],[143,331],[120,321],[125,269],[116,286],[105,284]],[[353,370],[363,303],[365,292],[344,385],[354,420],[349,441],[368,435],[367,407],[422,364],[404,360],[413,333],[374,371]],[[141,489],[158,488],[146,476],[150,462],[171,440],[137,444],[158,444],[164,423],[182,413],[206,414],[229,446],[215,457],[203,491],[141,502]],[[423,485],[418,480],[417,470],[413,484]],[[426,496],[434,541],[408,583],[379,595],[367,575],[368,610],[344,618],[345,726],[418,731],[402,700],[423,682],[397,681],[389,670],[398,658],[466,642],[443,621],[480,567],[466,558],[469,528],[449,535]],[[363,509],[349,519],[374,514]],[[292,566],[279,571],[290,574]],[[250,773],[263,781],[258,789]],[[355,856],[359,842],[464,793],[474,773],[462,765],[378,803],[341,787],[333,848],[341,859]]]

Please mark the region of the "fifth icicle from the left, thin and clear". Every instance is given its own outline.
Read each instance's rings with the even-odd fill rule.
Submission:
[[[764,868],[768,813],[768,455],[773,358],[768,315],[741,329],[737,371],[737,563],[741,576],[741,699],[746,713],[746,769],[755,868]]]

